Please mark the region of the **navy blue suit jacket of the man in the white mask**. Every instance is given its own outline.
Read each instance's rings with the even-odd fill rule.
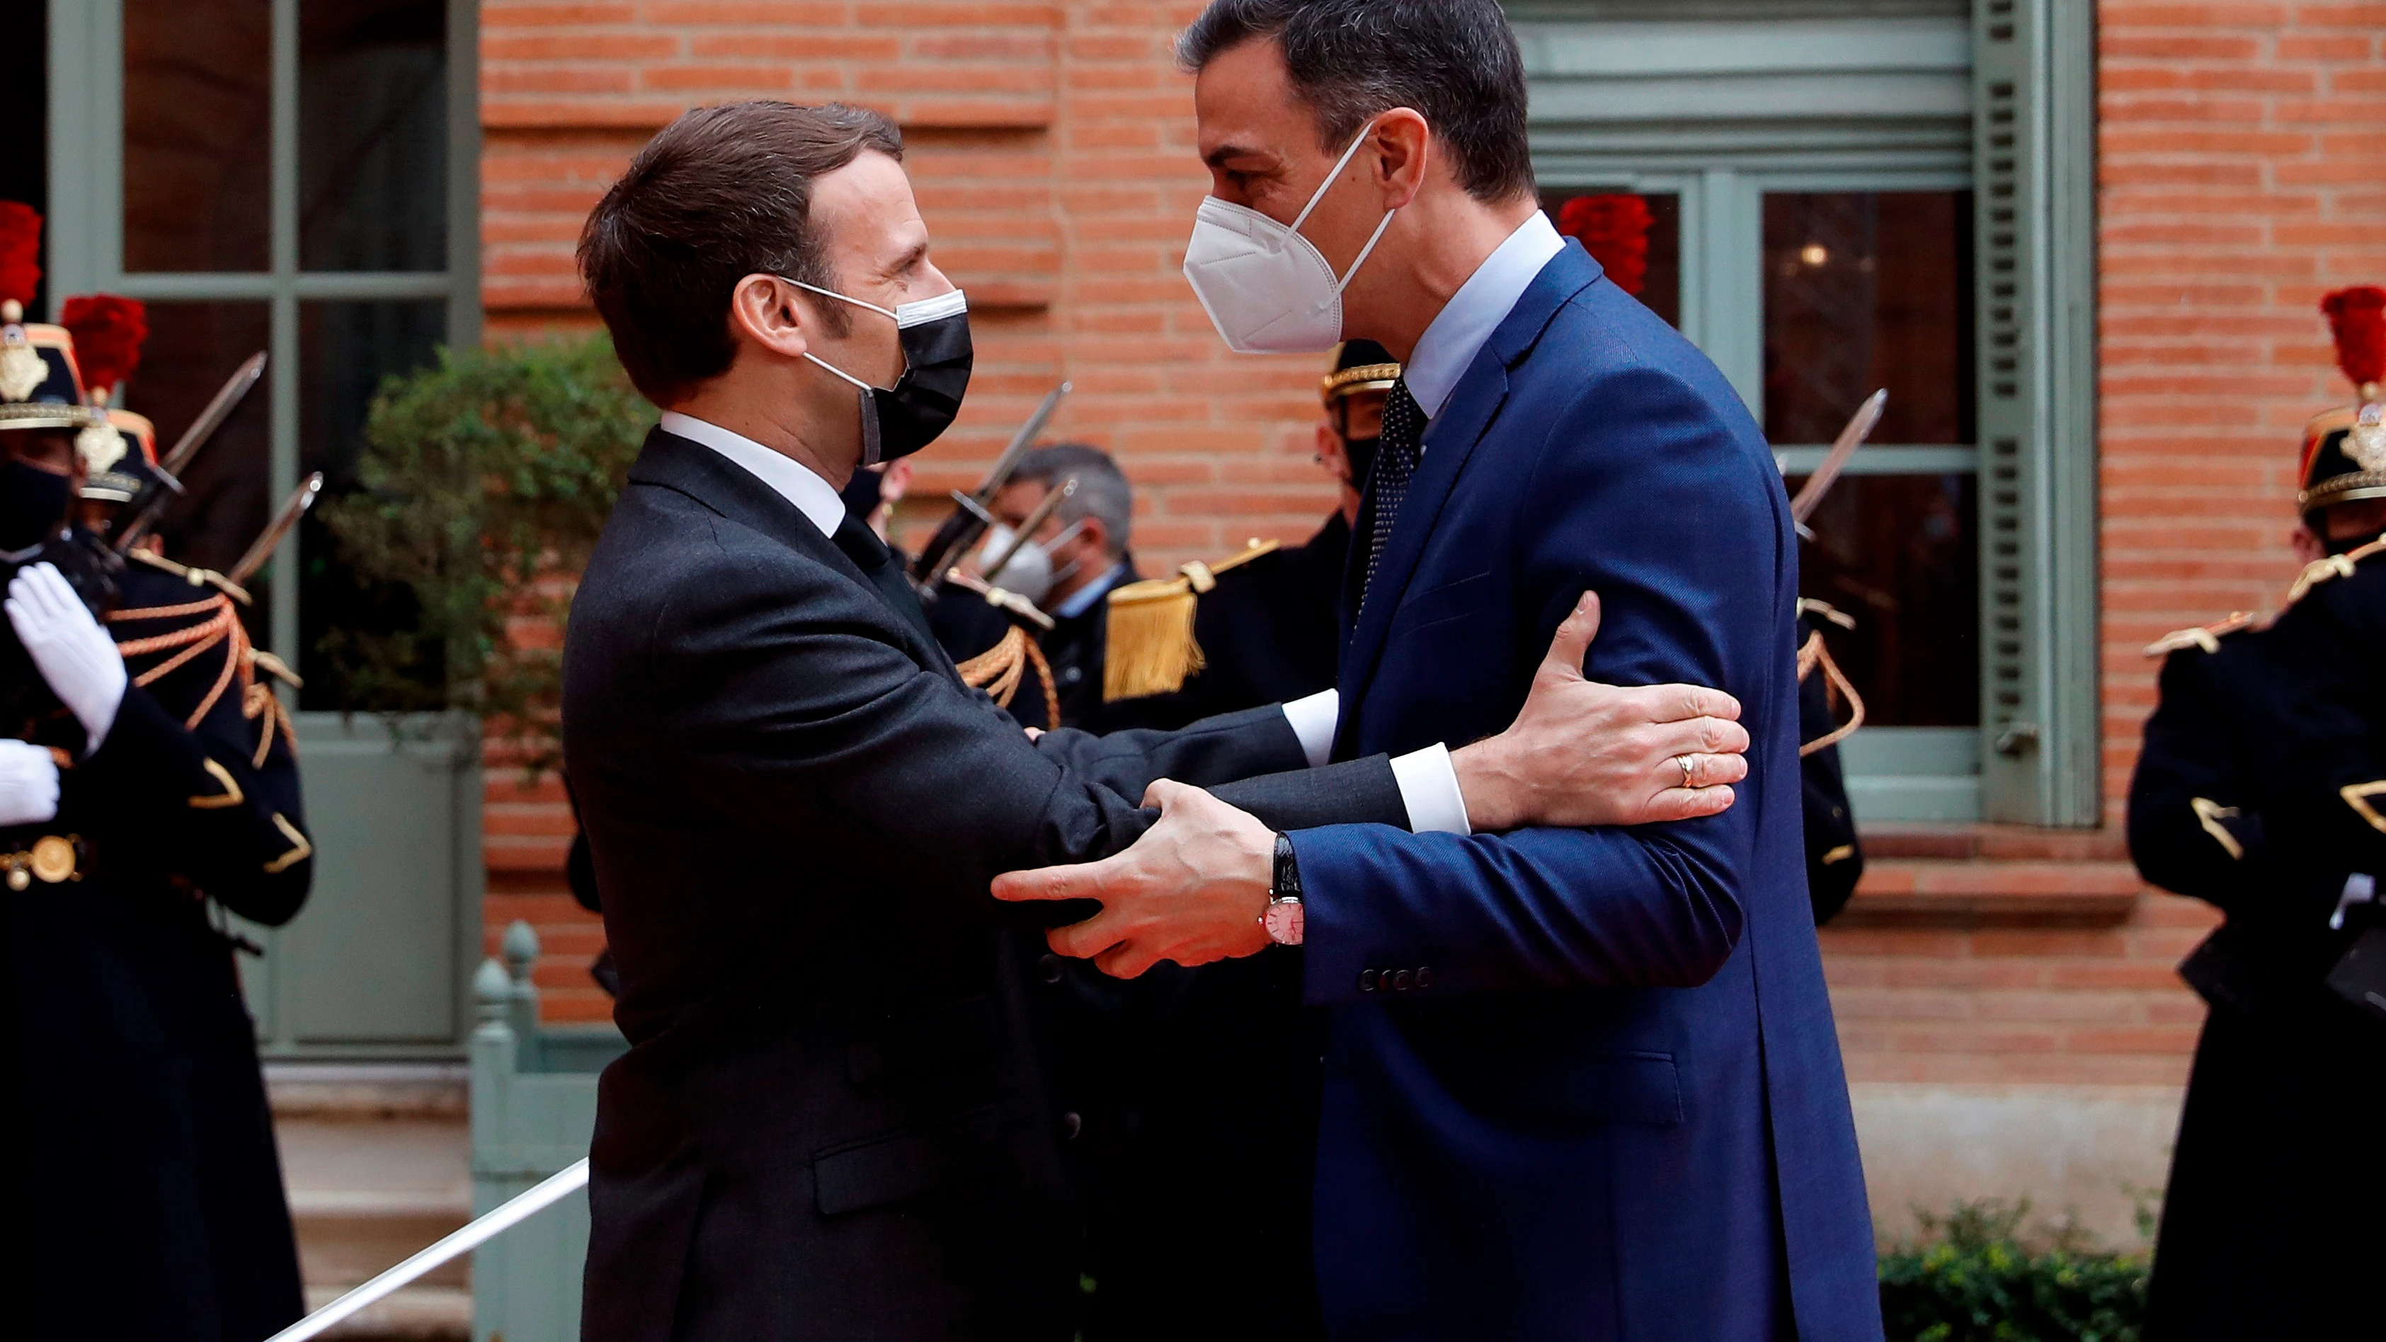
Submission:
[[[1587,589],[1587,672],[1735,694],[1749,779],[1680,825],[1293,837],[1329,1330],[1880,1337],[1806,901],[1790,501],[1723,374],[1568,243],[1427,429],[1336,753],[1498,732]]]

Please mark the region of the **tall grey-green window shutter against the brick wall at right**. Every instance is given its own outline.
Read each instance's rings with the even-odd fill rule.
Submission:
[[[1973,7],[1980,808],[2095,825],[2095,17]]]

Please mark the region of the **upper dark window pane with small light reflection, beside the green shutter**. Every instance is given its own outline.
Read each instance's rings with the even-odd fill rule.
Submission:
[[[1766,436],[1828,443],[1873,389],[1875,443],[1971,443],[1971,193],[1766,195]]]

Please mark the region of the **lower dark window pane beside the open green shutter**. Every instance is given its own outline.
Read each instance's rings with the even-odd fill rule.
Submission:
[[[1804,479],[1792,479],[1790,489]],[[1980,722],[1980,539],[1971,474],[1842,474],[1809,520],[1799,591],[1875,727]]]

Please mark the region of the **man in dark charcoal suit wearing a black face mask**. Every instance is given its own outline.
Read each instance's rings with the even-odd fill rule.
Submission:
[[[1735,799],[1744,737],[1716,713],[1737,706],[1694,686],[1549,686],[1455,753],[1334,768],[1310,768],[1331,696],[1031,741],[959,684],[837,493],[933,441],[969,377],[900,153],[864,110],[706,107],[582,231],[589,296],[663,408],[563,646],[630,1039],[589,1149],[589,1340],[1067,1337],[1083,1113],[1038,1049],[1064,975],[985,889],[1121,849],[1162,775],[1293,770],[1219,789],[1277,825]],[[1692,768],[1716,787],[1680,787]]]

